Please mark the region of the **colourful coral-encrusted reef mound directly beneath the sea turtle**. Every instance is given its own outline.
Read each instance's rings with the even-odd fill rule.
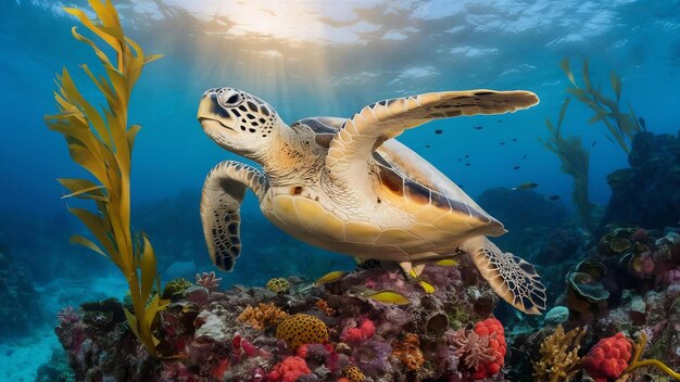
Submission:
[[[83,309],[64,310],[55,331],[84,381],[503,381],[498,297],[475,266],[428,265],[420,280],[435,292],[396,268],[320,284],[288,278],[286,293],[193,285],[159,315],[161,359],[123,320],[98,326]],[[275,308],[287,318],[257,321]]]

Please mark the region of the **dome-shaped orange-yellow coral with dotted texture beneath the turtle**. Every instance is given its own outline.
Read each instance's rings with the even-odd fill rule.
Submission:
[[[276,338],[286,341],[289,347],[302,344],[323,344],[328,342],[328,328],[324,321],[310,315],[293,315],[286,318],[276,328]]]

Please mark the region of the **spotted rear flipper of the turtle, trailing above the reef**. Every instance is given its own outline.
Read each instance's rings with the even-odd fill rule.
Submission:
[[[470,255],[493,291],[515,308],[530,315],[545,309],[545,286],[531,264],[502,252],[483,235],[466,240],[461,249]]]

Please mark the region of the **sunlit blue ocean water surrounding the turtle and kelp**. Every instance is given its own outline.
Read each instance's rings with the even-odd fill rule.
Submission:
[[[577,80],[588,59],[593,82],[609,97],[609,72],[616,71],[622,100],[648,130],[678,129],[678,1],[114,3],[129,37],[146,52],[164,55],[144,68],[129,120],[143,127],[133,164],[133,220],[158,243],[166,278],[214,269],[202,242],[200,188],[212,166],[241,160],[212,142],[196,120],[198,101],[209,88],[251,92],[289,124],[316,115],[349,117],[378,100],[429,91],[533,91],[541,103],[528,111],[437,120],[399,140],[474,199],[490,188],[536,182],[536,191],[561,195],[556,203],[568,208],[571,179],[538,140],[547,137],[544,119],[555,122],[568,97],[563,59],[570,60]],[[64,305],[106,294],[122,297],[124,291],[111,281],[117,270],[109,262],[67,243],[83,228],[68,217],[73,202],[60,200],[64,190],[55,178],[84,173],[43,116],[56,111],[54,77],[64,66],[83,84],[84,93],[97,97],[78,69],[97,62],[72,37],[77,22],[62,5],[87,3],[0,3],[0,252],[18,258],[34,280],[36,298],[48,310],[47,326]],[[609,198],[606,175],[626,167],[626,155],[605,137],[602,124],[588,123],[591,116],[587,106],[572,102],[564,131],[580,136],[589,148],[590,199],[604,205]],[[441,135],[435,132],[439,129]],[[242,213],[243,255],[235,272],[225,276],[226,283],[314,277],[352,265],[349,257],[320,255],[280,233],[261,217],[252,195]]]

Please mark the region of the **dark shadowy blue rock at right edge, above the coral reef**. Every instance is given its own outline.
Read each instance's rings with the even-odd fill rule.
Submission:
[[[680,226],[680,132],[639,132],[628,163],[630,168],[607,176],[612,199],[601,230],[610,222],[647,229]]]

